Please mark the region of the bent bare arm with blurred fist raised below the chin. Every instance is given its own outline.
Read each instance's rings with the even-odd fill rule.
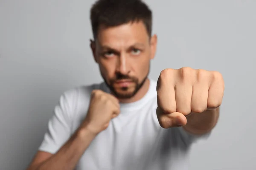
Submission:
[[[119,113],[118,99],[103,91],[94,90],[87,115],[79,129],[57,153],[52,155],[39,151],[27,170],[73,170],[97,134],[105,130],[110,120]]]

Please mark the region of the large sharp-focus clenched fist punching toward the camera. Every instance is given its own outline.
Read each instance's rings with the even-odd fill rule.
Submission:
[[[163,128],[184,126],[190,113],[221,105],[224,80],[217,71],[165,69],[157,80],[157,118]]]

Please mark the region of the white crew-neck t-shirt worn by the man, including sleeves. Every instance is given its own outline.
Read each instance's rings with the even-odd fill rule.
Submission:
[[[104,82],[65,92],[49,120],[39,150],[56,153],[86,116],[93,89],[110,93]],[[189,148],[197,139],[182,127],[164,129],[156,116],[156,81],[137,102],[120,103],[120,114],[96,136],[76,170],[187,170]]]

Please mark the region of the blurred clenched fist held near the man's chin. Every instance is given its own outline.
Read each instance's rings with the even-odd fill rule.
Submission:
[[[118,99],[101,90],[94,90],[91,93],[90,106],[82,126],[87,126],[93,133],[100,133],[108,127],[110,120],[119,113]]]

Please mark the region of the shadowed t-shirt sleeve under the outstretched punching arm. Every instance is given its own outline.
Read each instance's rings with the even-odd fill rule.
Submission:
[[[192,133],[189,133],[186,131],[183,127],[177,127],[177,131],[180,134],[181,139],[183,142],[185,142],[187,145],[190,145],[192,143],[198,142],[199,140],[208,139],[211,131],[202,135],[195,135]]]

